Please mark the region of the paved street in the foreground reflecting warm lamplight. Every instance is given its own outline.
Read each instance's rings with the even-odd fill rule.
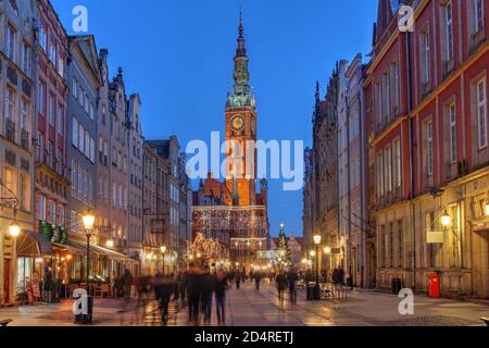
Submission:
[[[299,293],[298,302],[291,306],[287,299],[279,304],[273,284],[262,284],[260,291],[254,284],[244,283],[241,289],[230,289],[227,295],[226,325],[229,326],[484,326],[481,316],[489,314],[489,307],[448,299],[416,296],[414,315],[401,315],[401,299],[383,293],[352,290],[346,301],[305,301]],[[214,303],[213,303],[214,304]],[[58,306],[12,307],[0,309],[0,318],[11,318],[12,326],[73,326],[71,301]],[[124,301],[96,299],[95,325],[102,326],[160,326],[156,302],[146,306],[133,301],[124,308]],[[188,310],[178,302],[171,304],[168,326],[192,325]],[[213,308],[211,326],[217,326]]]

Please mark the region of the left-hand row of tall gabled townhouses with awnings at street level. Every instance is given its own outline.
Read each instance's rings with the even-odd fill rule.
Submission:
[[[110,79],[108,57],[93,36],[67,35],[49,0],[0,2],[0,304],[25,298],[27,283],[38,284],[47,268],[66,286],[86,278],[87,212],[96,215],[93,279],[109,282],[125,269],[143,273],[145,262],[156,261],[148,246],[173,236],[165,204],[158,231],[145,227],[153,207],[145,187],[154,178],[145,175],[141,98],[127,96],[122,69]],[[176,144],[176,172],[173,158],[158,160],[185,195],[178,209],[187,213],[175,224],[185,233],[168,244],[172,254],[191,231],[190,185]],[[158,185],[166,202],[170,183]]]

